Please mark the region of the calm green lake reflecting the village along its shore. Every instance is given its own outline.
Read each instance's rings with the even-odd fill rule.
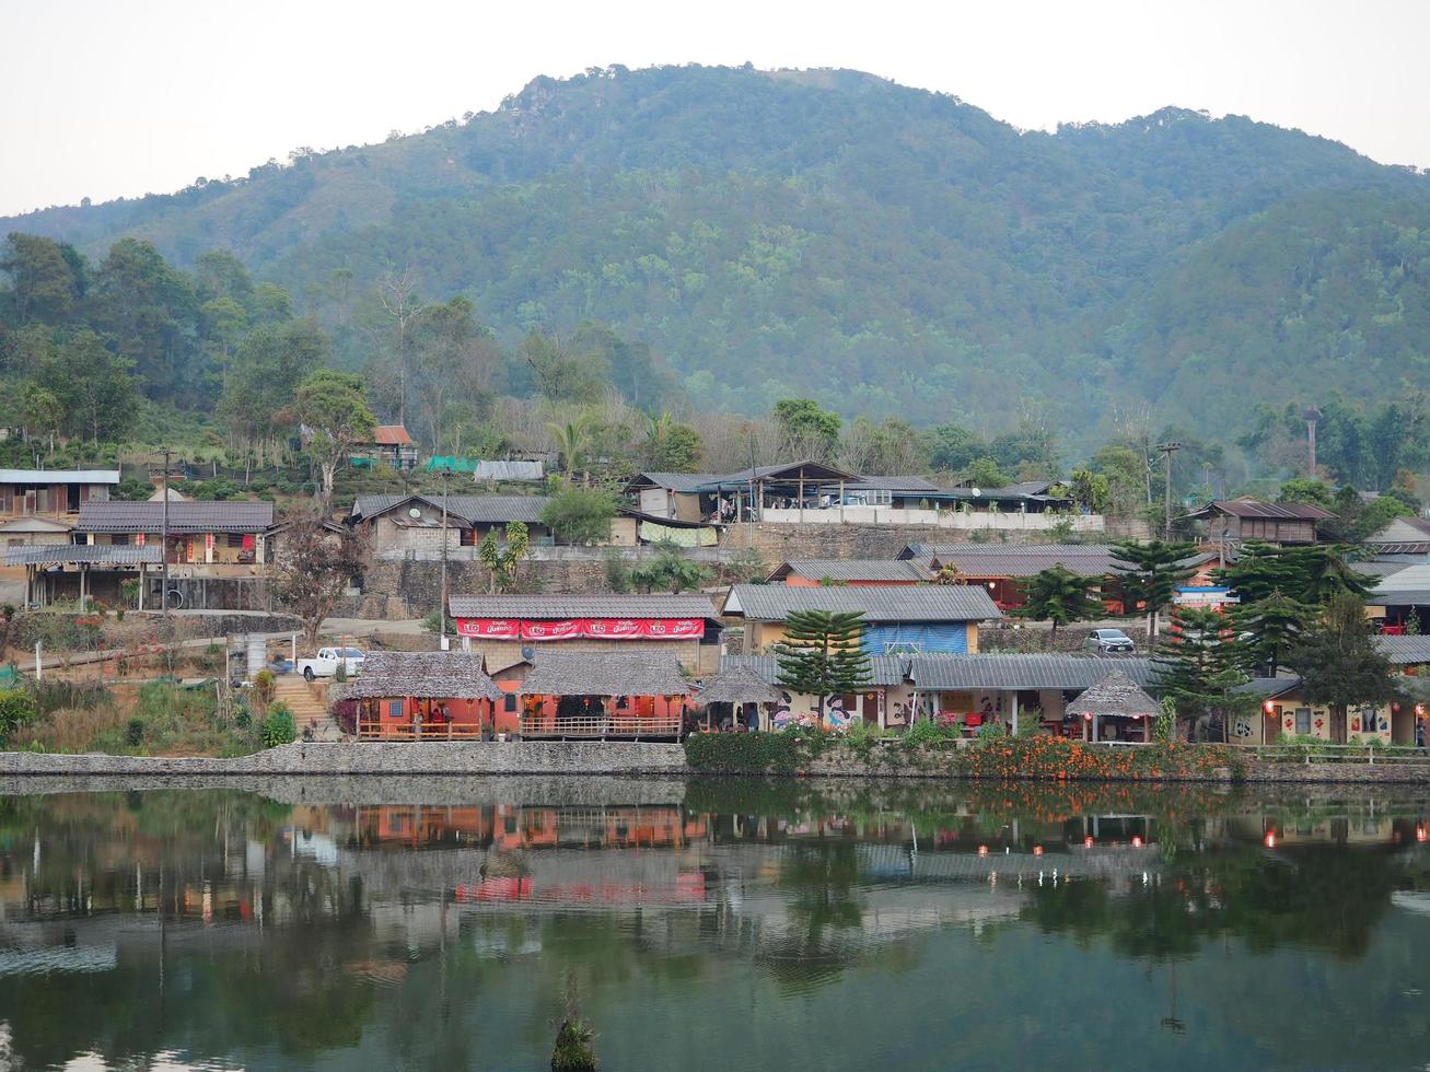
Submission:
[[[0,798],[0,1068],[1430,1066],[1423,798],[629,785]]]

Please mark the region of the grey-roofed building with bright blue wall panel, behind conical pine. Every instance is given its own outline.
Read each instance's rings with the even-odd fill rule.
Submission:
[[[977,652],[980,622],[1001,617],[985,589],[961,585],[735,585],[722,613],[744,623],[745,650],[759,655],[785,639],[785,620],[797,610],[862,613],[864,649],[869,655]]]

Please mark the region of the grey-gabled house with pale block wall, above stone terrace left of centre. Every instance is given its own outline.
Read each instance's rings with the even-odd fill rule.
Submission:
[[[500,539],[512,522],[526,526],[532,543],[549,542],[541,520],[549,502],[543,495],[360,495],[345,523],[368,533],[376,557],[440,555],[445,523],[448,553],[470,557],[460,549],[475,549],[492,530]]]

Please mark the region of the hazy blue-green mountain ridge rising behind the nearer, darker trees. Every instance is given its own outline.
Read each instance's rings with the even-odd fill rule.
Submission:
[[[1298,131],[1167,109],[1020,133],[854,71],[592,71],[378,146],[172,196],[0,220],[94,259],[213,247],[372,357],[358,296],[410,272],[508,343],[609,323],[699,409],[1091,442],[1153,407],[1241,432],[1257,403],[1430,383],[1430,179]]]

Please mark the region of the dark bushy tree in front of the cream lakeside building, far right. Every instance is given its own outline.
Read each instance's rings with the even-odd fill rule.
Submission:
[[[1366,605],[1351,592],[1331,596],[1287,662],[1301,676],[1306,699],[1331,709],[1331,739],[1338,743],[1346,742],[1347,708],[1379,708],[1399,696],[1390,660],[1366,619]]]

